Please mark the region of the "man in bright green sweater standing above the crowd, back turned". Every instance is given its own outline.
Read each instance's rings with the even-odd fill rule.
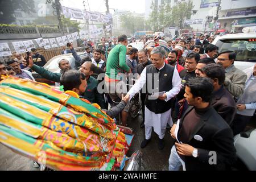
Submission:
[[[126,95],[127,87],[125,85],[125,73],[131,73],[131,69],[126,64],[126,46],[128,40],[126,35],[118,37],[118,44],[109,52],[106,63],[105,84],[108,89],[109,97],[119,102],[122,99],[122,94]],[[125,80],[123,82],[122,80]],[[127,116],[129,111],[129,102],[122,111],[122,125],[126,126]]]

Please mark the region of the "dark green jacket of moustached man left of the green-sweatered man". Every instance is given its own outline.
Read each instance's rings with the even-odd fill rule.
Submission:
[[[91,77],[87,80],[87,88],[84,93],[84,98],[90,102],[97,103],[101,108],[105,107],[104,95],[98,93],[98,80]]]

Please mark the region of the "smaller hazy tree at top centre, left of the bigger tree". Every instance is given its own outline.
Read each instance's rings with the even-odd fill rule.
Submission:
[[[143,31],[145,28],[145,19],[142,16],[136,16],[128,12],[120,16],[121,27],[127,34],[133,35],[136,31]]]

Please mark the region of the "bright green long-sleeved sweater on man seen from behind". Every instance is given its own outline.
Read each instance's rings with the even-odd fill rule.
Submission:
[[[118,44],[109,52],[108,61],[106,63],[106,75],[109,78],[120,80],[118,73],[130,71],[130,68],[126,64],[126,51],[125,46]],[[114,69],[113,73],[111,73],[112,69]]]

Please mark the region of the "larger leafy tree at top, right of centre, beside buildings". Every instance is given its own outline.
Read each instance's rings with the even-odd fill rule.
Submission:
[[[147,20],[147,25],[153,31],[163,31],[165,27],[182,26],[185,19],[190,19],[192,15],[193,2],[177,2],[171,8],[168,0],[163,0],[160,6],[156,6],[154,1],[151,4],[150,18]]]

